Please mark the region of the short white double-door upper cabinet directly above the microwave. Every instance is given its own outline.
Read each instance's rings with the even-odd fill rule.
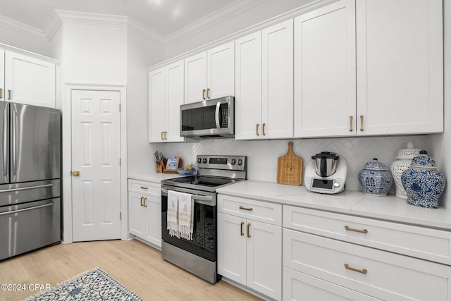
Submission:
[[[235,95],[235,46],[228,42],[185,59],[185,104]]]

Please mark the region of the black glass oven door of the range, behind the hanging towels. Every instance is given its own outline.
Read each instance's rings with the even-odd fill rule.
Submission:
[[[168,190],[192,194],[194,199],[192,240],[169,235],[167,229]],[[161,186],[161,239],[199,257],[216,262],[216,192]]]

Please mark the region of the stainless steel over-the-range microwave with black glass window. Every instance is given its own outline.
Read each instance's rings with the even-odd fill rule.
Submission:
[[[180,106],[180,136],[191,138],[235,137],[235,97],[207,99]]]

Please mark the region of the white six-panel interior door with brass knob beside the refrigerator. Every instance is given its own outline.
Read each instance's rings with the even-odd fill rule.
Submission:
[[[73,241],[121,238],[120,100],[116,91],[72,92]]]

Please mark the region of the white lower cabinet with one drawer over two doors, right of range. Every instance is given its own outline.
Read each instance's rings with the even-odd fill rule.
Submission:
[[[218,195],[218,274],[282,295],[281,205]]]

